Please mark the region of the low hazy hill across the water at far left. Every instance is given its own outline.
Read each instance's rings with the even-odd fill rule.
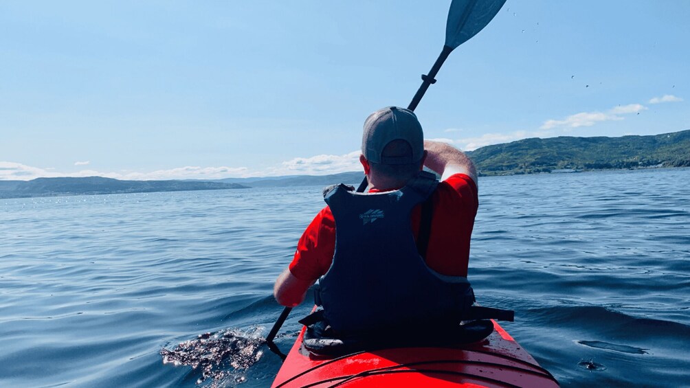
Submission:
[[[32,181],[0,181],[0,198],[244,188],[248,187],[237,183],[205,181],[119,181],[118,179],[102,178],[101,176],[89,176],[86,178],[36,178]]]

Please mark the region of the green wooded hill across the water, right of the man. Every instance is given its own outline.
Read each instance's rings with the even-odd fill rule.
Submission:
[[[480,175],[690,166],[690,130],[653,136],[524,139],[467,155]]]

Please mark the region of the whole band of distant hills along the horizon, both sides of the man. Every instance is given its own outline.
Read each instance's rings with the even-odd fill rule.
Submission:
[[[488,145],[467,152],[480,176],[535,174],[559,170],[602,170],[640,167],[690,166],[690,130],[653,136],[573,137],[523,139]],[[358,185],[364,174],[226,178],[214,181],[119,181],[112,178],[36,178],[32,181],[0,181],[0,198],[227,190],[248,187]],[[242,183],[242,184],[240,184]]]

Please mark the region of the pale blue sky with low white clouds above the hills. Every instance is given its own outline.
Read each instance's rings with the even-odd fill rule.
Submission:
[[[358,170],[450,1],[2,1],[0,179]],[[508,0],[416,113],[462,150],[690,129],[690,2]]]

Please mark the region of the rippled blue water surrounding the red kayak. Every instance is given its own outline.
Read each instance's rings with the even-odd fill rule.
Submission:
[[[564,386],[690,385],[689,182],[689,169],[482,178],[477,299],[515,309],[504,327]],[[270,385],[273,280],[319,193],[0,200],[0,386],[194,387],[204,365],[163,362],[179,344],[244,349],[201,385]]]

